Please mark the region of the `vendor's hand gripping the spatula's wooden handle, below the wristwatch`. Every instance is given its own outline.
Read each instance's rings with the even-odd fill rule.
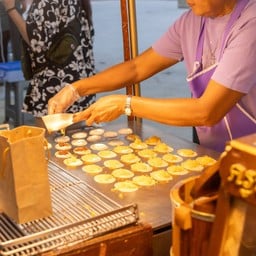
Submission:
[[[86,124],[110,122],[124,113],[125,95],[109,95],[100,98],[86,110],[74,115],[74,122],[86,120]]]

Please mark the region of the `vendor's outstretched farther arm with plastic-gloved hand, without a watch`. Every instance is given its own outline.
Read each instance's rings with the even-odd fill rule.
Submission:
[[[113,91],[143,81],[178,61],[157,54],[152,48],[135,57],[112,66],[95,76],[79,80],[65,87],[48,102],[48,113],[64,112],[77,100],[76,95]],[[77,92],[77,93],[74,93]]]

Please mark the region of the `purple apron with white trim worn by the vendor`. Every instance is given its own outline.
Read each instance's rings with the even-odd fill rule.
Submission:
[[[242,10],[248,2],[249,0],[238,1],[233,13],[231,14],[222,38],[221,51],[218,61],[223,54],[226,43],[225,41],[232,25],[239,18]],[[202,18],[202,27],[197,45],[194,71],[187,78],[192,96],[194,98],[199,98],[203,94],[218,65],[217,61],[217,63],[214,65],[202,70],[201,59],[204,43],[204,25],[205,19]],[[198,126],[196,127],[196,131],[201,145],[222,152],[225,149],[226,141],[255,133],[256,120],[237,103],[219,123],[212,127]]]

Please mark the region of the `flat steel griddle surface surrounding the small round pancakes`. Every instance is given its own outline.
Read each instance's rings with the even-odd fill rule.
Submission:
[[[209,155],[214,158],[218,158],[219,154],[201,147],[200,145],[194,144],[191,141],[184,140],[181,138],[177,138],[168,132],[168,127],[166,126],[158,126],[153,127],[150,125],[141,124],[139,122],[112,122],[104,125],[106,131],[118,131],[120,128],[130,127],[133,129],[135,134],[141,136],[142,139],[147,137],[156,135],[159,136],[163,142],[167,143],[171,147],[176,149],[180,148],[190,148],[195,150],[200,155]],[[77,131],[89,131],[91,128],[84,127],[83,129],[73,130],[67,132],[67,135],[71,135]],[[50,143],[54,145],[54,138],[59,134],[52,134],[49,136],[48,140]],[[102,143],[104,141],[101,141]],[[127,142],[128,143],[128,142]],[[55,150],[54,150],[55,151]],[[103,193],[108,198],[114,200],[115,202],[119,203],[122,206],[137,203],[140,213],[140,220],[142,222],[149,223],[153,230],[159,230],[164,228],[171,227],[171,219],[172,219],[172,207],[171,207],[171,200],[169,197],[170,189],[180,180],[185,179],[192,175],[199,175],[200,173],[191,172],[190,174],[183,175],[183,176],[175,176],[173,180],[169,183],[165,184],[157,184],[155,186],[140,188],[136,192],[132,193],[121,193],[113,191],[113,184],[105,185],[105,184],[98,184],[93,180],[93,175],[87,174],[82,171],[81,167],[77,168],[67,168],[63,164],[62,159],[58,159],[52,154],[51,160],[59,167],[65,169],[70,174],[74,175],[75,177],[80,178],[81,180],[85,181],[89,186],[94,188],[95,190]]]

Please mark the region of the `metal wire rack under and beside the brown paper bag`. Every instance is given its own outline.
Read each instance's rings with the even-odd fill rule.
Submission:
[[[0,214],[1,255],[38,255],[136,224],[137,205],[122,207],[49,163],[53,215],[16,224]]]

